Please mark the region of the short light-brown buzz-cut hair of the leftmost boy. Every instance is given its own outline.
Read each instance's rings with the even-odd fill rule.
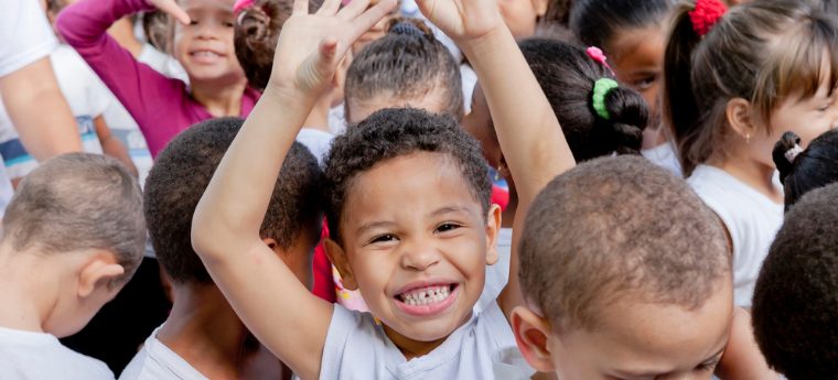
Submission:
[[[146,248],[142,192],[117,160],[67,153],[44,161],[18,186],[3,215],[2,240],[15,251],[114,253],[127,282]]]

